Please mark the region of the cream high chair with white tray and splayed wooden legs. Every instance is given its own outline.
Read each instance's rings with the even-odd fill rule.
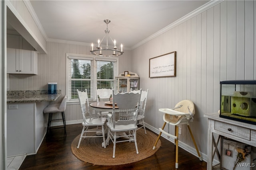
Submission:
[[[178,104],[176,104],[176,106],[173,109],[163,108],[163,109],[159,109],[159,111],[165,113],[164,116],[163,116],[164,125],[163,125],[162,129],[159,128],[160,133],[158,135],[158,138],[156,139],[156,143],[155,143],[153,149],[156,148],[156,144],[157,144],[157,142],[158,142],[162,133],[164,133],[168,137],[173,137],[174,138],[174,145],[176,145],[175,168],[178,168],[178,134],[179,134],[178,133],[178,129],[179,129],[178,126],[182,125],[182,124],[187,124],[189,133],[190,133],[191,138],[193,140],[193,143],[196,147],[196,151],[197,151],[199,160],[202,161],[202,157],[200,155],[200,152],[199,152],[198,147],[196,145],[196,141],[195,141],[195,139],[192,135],[192,132],[191,132],[191,129],[190,129],[190,126],[189,126],[189,122],[193,120],[193,116],[195,114],[194,103],[190,100],[182,100],[182,101],[178,102]],[[169,125],[174,125],[175,126],[175,135],[167,133],[166,131],[163,130],[166,123],[168,123]]]

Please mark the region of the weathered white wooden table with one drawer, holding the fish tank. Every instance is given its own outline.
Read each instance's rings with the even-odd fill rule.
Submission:
[[[207,170],[212,170],[215,154],[220,158],[220,135],[256,147],[256,125],[225,119],[219,113],[207,113],[204,117],[208,118]],[[213,133],[218,135],[216,140]]]

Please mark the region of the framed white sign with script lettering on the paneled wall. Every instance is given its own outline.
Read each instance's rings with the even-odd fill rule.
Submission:
[[[176,51],[149,59],[149,78],[175,76]]]

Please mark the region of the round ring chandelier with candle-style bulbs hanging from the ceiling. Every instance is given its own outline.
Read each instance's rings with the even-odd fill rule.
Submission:
[[[117,57],[122,55],[123,52],[123,45],[121,44],[121,51],[118,50],[118,48],[116,47],[116,39],[113,39],[110,37],[109,35],[109,29],[108,29],[108,23],[110,23],[110,20],[104,20],[104,22],[107,24],[107,28],[105,29],[105,35],[102,38],[102,40],[100,41],[100,39],[98,39],[98,47],[96,47],[96,49],[93,49],[93,43],[92,43],[92,51],[90,51],[93,55],[97,55],[97,56],[104,56],[104,57]],[[106,37],[106,46],[105,48],[102,48],[102,41],[104,40],[104,38]],[[113,49],[109,49],[108,48],[108,37],[110,37],[111,41],[114,44],[114,48]],[[110,55],[108,55],[110,54]]]

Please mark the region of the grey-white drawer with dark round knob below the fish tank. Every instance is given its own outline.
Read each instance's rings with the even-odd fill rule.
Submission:
[[[229,135],[233,135],[233,136],[240,137],[242,139],[246,139],[250,141],[251,129],[224,123],[221,121],[215,121],[214,127],[215,127],[214,129],[217,131],[221,131]]]

